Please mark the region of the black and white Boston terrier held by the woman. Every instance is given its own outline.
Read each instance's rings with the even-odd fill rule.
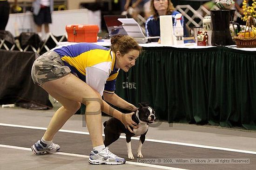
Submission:
[[[135,114],[132,115],[132,120],[137,123],[138,128],[133,130],[131,133],[126,127],[121,123],[120,120],[115,118],[110,118],[108,121],[104,122],[104,133],[105,140],[104,145],[108,146],[119,139],[121,133],[126,134],[126,145],[128,151],[128,158],[134,159],[132,148],[131,148],[131,137],[140,136],[139,147],[137,150],[137,157],[142,158],[141,147],[145,141],[146,133],[148,132],[148,124],[155,121],[155,111],[152,107],[149,107],[147,104],[139,103],[139,109]]]

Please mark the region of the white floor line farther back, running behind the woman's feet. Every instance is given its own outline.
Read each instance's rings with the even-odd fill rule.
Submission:
[[[46,127],[22,126],[22,125],[13,125],[13,124],[5,124],[5,123],[0,123],[0,126],[21,127],[21,128],[29,128],[29,129],[40,129],[40,130],[47,129]],[[63,129],[59,130],[59,132],[78,133],[78,134],[89,135],[89,132],[69,131],[69,130],[63,130]],[[102,134],[102,136],[105,136],[105,135]],[[125,139],[125,136],[120,136],[120,138]],[[131,139],[139,140],[140,138],[132,137]],[[215,150],[222,150],[222,151],[234,151],[234,152],[241,152],[241,153],[256,154],[256,151],[246,151],[246,150],[238,150],[238,149],[223,148],[223,147],[208,146],[208,145],[197,145],[197,144],[173,142],[173,141],[166,141],[166,140],[156,140],[156,139],[145,139],[145,140],[150,141],[150,142],[164,143],[164,144],[184,145],[184,146],[192,146],[192,147],[198,147],[198,148],[207,148],[207,149],[215,149]]]

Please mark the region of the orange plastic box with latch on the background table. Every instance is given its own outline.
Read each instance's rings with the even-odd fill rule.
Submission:
[[[67,41],[95,43],[99,30],[98,25],[67,25]]]

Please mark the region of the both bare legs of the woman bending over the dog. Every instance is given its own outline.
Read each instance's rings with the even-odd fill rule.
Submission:
[[[44,135],[45,140],[51,140],[54,137],[55,133],[78,109],[80,102],[86,104],[86,122],[93,147],[103,145],[99,102],[101,99],[88,84],[69,74],[60,79],[45,82],[42,87],[63,105],[50,121]]]

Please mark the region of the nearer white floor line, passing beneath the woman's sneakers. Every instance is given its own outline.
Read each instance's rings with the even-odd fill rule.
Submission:
[[[31,151],[31,148],[24,148],[24,147],[19,147],[19,146],[0,145],[0,147],[11,148],[11,149],[19,149],[19,150],[25,150],[25,151]],[[79,155],[79,154],[74,154],[74,153],[56,152],[54,154],[66,155],[66,156],[72,156],[72,157],[85,157],[85,158],[89,158],[89,156],[87,156],[87,155]],[[181,168],[173,168],[173,167],[161,166],[161,165],[155,165],[155,164],[143,164],[143,163],[130,162],[130,161],[126,161],[126,164],[133,164],[133,165],[138,165],[138,166],[146,166],[146,167],[158,168],[158,169],[164,169],[164,170],[187,170],[187,169],[181,169]]]

